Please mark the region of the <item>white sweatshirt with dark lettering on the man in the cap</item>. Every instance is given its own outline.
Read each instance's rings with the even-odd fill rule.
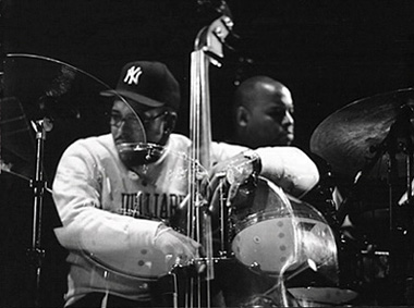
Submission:
[[[149,299],[148,282],[169,270],[154,239],[160,220],[168,221],[187,195],[190,146],[188,138],[172,134],[165,155],[142,175],[124,167],[110,134],[77,140],[65,150],[53,182],[53,199],[63,224],[56,234],[70,251],[66,305],[90,292]],[[211,161],[244,150],[212,143]],[[291,195],[305,194],[319,180],[314,162],[297,148],[269,147],[256,152],[261,175]]]

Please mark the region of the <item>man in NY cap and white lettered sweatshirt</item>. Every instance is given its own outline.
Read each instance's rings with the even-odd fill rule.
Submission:
[[[170,172],[185,170],[184,162],[172,153],[188,152],[191,147],[187,137],[172,133],[181,101],[176,79],[162,63],[135,61],[123,66],[117,91],[127,104],[114,91],[102,94],[113,99],[111,133],[73,143],[61,157],[53,182],[53,200],[62,220],[56,234],[70,252],[65,307],[163,305],[151,297],[151,284],[145,276],[131,278],[117,268],[99,270],[87,251],[120,257],[136,251],[137,261],[131,262],[137,262],[137,268],[151,263],[155,251],[165,254],[171,268],[188,264],[200,251],[198,243],[168,226],[176,206],[173,200],[187,194],[187,187],[168,182]],[[165,152],[135,156],[121,151],[122,144],[145,139],[162,146]],[[253,170],[292,195],[302,195],[318,182],[314,162],[294,147],[253,151],[214,143],[211,152],[215,168],[210,178],[235,163],[256,160],[261,171],[257,163]],[[139,204],[142,196],[145,207]],[[127,211],[131,207],[138,212]]]

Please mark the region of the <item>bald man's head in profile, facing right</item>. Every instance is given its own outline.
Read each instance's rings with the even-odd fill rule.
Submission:
[[[290,90],[270,77],[248,78],[235,90],[236,139],[245,146],[257,148],[291,145],[294,137],[292,114]]]

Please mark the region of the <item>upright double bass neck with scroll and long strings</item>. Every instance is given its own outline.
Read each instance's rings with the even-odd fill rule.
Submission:
[[[221,1],[216,9],[220,14],[209,26],[202,28],[191,53],[190,139],[192,148],[188,167],[188,199],[185,204],[184,232],[204,247],[205,255],[198,263],[204,274],[188,279],[184,287],[185,307],[210,307],[210,282],[215,279],[212,248],[212,215],[208,210],[207,196],[203,192],[203,178],[211,168],[209,65],[221,65],[224,40],[231,34],[233,22],[227,4]]]

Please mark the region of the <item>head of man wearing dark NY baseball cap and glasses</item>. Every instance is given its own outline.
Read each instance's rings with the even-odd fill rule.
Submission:
[[[180,86],[165,64],[127,63],[121,71],[117,89],[101,95],[114,99],[111,133],[115,144],[142,143],[143,126],[147,143],[165,145],[168,141],[180,107]]]

